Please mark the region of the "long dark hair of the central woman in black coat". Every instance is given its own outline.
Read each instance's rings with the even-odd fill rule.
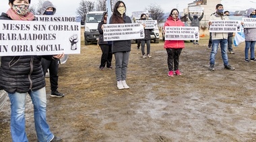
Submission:
[[[114,7],[111,23],[125,23],[123,21],[123,17],[125,16],[125,13],[123,13],[123,17],[121,17],[121,14],[119,13],[119,11],[117,11],[120,3],[123,3],[123,5],[125,6],[125,3],[123,1],[117,1],[117,3],[115,4],[115,7]],[[125,10],[126,10],[126,6],[125,6]]]

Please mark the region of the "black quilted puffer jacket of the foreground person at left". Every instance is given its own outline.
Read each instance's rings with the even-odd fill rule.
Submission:
[[[11,20],[6,13],[0,19]],[[45,86],[41,58],[53,60],[52,56],[2,56],[0,66],[0,89],[6,92],[28,92]]]

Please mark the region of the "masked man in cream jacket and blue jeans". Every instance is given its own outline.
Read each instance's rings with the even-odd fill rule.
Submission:
[[[228,16],[224,15],[223,13],[223,5],[218,4],[216,5],[216,13],[211,15],[209,19],[209,26],[212,25],[212,21],[214,20],[229,20]],[[224,63],[224,68],[227,70],[234,70],[234,67],[228,64],[228,33],[216,33],[212,32],[212,51],[210,53],[210,67],[209,70],[214,71],[214,64],[215,64],[215,56],[218,51],[218,45],[220,44],[220,50],[222,52],[222,60]]]

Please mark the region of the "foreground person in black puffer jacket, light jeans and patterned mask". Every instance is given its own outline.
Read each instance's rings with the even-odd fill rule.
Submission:
[[[34,15],[28,10],[30,0],[9,0],[7,13],[0,19],[32,21]],[[24,41],[26,44],[27,42]],[[57,60],[56,56],[3,56],[0,67],[0,89],[5,90],[11,102],[11,139],[28,141],[26,136],[26,94],[34,105],[34,124],[38,141],[62,141],[51,133],[46,122],[46,91],[41,59]]]

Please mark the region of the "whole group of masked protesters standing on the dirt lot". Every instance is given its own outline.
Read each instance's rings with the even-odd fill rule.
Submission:
[[[5,20],[22,20],[32,21],[34,15],[28,10],[31,0],[9,0],[10,8],[6,13],[2,13],[0,19]],[[43,9],[41,15],[54,15],[56,8],[50,1],[44,1],[42,5]],[[113,9],[113,15],[110,17],[110,23],[122,24],[131,23],[130,17],[125,14],[126,6],[123,1],[117,1]],[[214,20],[228,20],[229,12],[224,12],[222,4],[216,5],[216,13],[213,13],[210,17],[209,26],[212,25]],[[249,9],[247,11],[248,17],[256,17],[255,9]],[[102,56],[100,59],[100,70],[104,70],[104,67],[113,69],[111,65],[113,54],[115,56],[115,75],[117,80],[118,89],[128,89],[127,85],[127,68],[129,62],[129,54],[131,52],[131,40],[117,40],[113,42],[104,42],[103,28],[106,24],[106,19],[109,15],[104,12],[102,20],[98,23],[98,31],[100,33],[98,44],[102,50]],[[203,13],[200,17],[193,15],[191,17],[189,13],[189,19],[191,19],[191,26],[199,27],[199,21],[203,18]],[[146,14],[141,14],[141,20],[146,20]],[[145,25],[143,25],[145,27]],[[185,26],[179,19],[178,9],[172,9],[168,19],[164,23],[166,26]],[[256,43],[256,28],[245,28],[245,62],[256,61],[255,59],[255,43]],[[141,54],[143,58],[151,58],[150,56],[150,29],[144,29],[145,38],[140,40]],[[234,67],[230,66],[228,62],[228,51],[230,54],[234,54],[232,51],[232,37],[233,33],[211,33],[212,49],[210,52],[210,67],[211,71],[215,68],[215,58],[220,45],[222,53],[222,60],[224,62],[224,68],[228,70],[234,70]],[[194,44],[199,44],[198,41],[194,41]],[[147,46],[147,52],[144,48]],[[165,40],[164,47],[167,53],[168,63],[168,76],[173,77],[181,75],[179,70],[179,57],[185,43],[183,40]],[[248,57],[249,49],[251,51],[251,57]],[[25,102],[26,94],[28,93],[34,104],[34,123],[36,128],[36,135],[38,141],[62,141],[60,137],[57,137],[51,133],[48,123],[46,122],[46,90],[45,90],[45,74],[49,69],[50,81],[51,81],[51,96],[63,97],[64,94],[59,92],[58,89],[58,68],[59,58],[63,58],[64,54],[55,56],[3,56],[1,57],[0,67],[0,88],[5,90],[9,95],[11,102],[11,138],[13,141],[28,141],[26,136],[25,126]],[[250,59],[250,60],[249,60]]]

